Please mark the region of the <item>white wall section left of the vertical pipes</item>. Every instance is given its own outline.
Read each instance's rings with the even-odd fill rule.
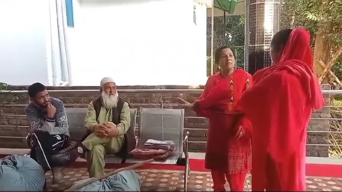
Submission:
[[[1,0],[0,18],[0,82],[48,84],[48,1]]]

